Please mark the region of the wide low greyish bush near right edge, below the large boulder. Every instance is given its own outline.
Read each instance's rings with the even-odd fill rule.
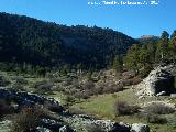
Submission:
[[[175,112],[174,108],[166,106],[162,102],[153,102],[144,108],[144,111],[147,113],[155,114],[168,114]]]

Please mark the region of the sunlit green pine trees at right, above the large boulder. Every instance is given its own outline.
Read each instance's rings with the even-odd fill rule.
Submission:
[[[158,41],[143,40],[141,45],[134,44],[125,56],[125,66],[140,73],[141,77],[147,76],[162,61],[176,61],[176,31],[169,34],[164,31]]]

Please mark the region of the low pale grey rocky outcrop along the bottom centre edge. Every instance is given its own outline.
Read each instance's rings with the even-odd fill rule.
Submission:
[[[69,122],[69,124],[75,128],[77,132],[87,132],[87,127],[89,125],[100,128],[103,132],[150,132],[150,127],[147,124],[125,124],[123,122],[117,123],[111,120],[96,120],[85,114],[65,117],[64,120],[67,120],[67,122]],[[98,132],[98,129],[96,132]]]

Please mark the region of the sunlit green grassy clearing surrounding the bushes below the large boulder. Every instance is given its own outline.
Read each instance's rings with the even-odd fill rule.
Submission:
[[[135,87],[134,87],[135,88]],[[140,105],[143,106],[150,101],[170,101],[170,99],[166,97],[151,97],[140,100],[138,96],[135,96],[134,89],[128,87],[124,91],[120,91],[117,94],[109,95],[100,95],[91,97],[88,100],[85,100],[80,103],[75,103],[72,106],[72,109],[78,109],[85,111],[89,114],[96,114],[103,119],[111,119],[118,122],[124,123],[147,123],[146,120],[141,119],[138,114],[134,116],[117,116],[114,114],[114,102],[117,100],[127,101],[130,105]],[[172,100],[176,102],[176,99]],[[169,117],[170,120],[176,121],[175,114],[165,116]],[[174,124],[150,124],[152,132],[176,132],[174,129]]]

